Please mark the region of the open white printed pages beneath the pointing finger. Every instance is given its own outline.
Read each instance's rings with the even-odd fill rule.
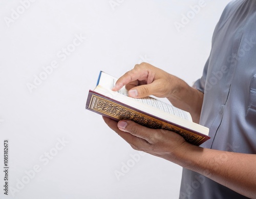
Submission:
[[[99,80],[98,84],[102,87],[105,87],[105,89],[111,90],[113,88],[113,86],[115,85],[116,81],[117,81],[116,78],[114,78],[104,72],[101,72],[100,80]],[[111,92],[113,92],[113,91],[111,91]],[[137,98],[131,98],[131,97],[127,96],[127,90],[125,89],[125,86],[123,86],[122,89],[120,89],[116,93],[126,96],[127,98],[129,98],[132,101],[139,101],[143,104],[147,104],[147,105],[153,106],[155,108],[158,108],[165,113],[173,114],[173,115],[183,118],[185,120],[192,121],[191,116],[188,112],[185,112],[184,110],[181,110],[171,104],[167,104],[167,103],[160,101],[158,99],[155,99],[153,97],[137,99]]]

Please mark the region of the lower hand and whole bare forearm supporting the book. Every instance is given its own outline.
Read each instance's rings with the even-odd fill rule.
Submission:
[[[255,154],[202,148],[185,142],[172,131],[147,128],[131,120],[103,119],[134,149],[164,158],[242,195],[256,198]]]

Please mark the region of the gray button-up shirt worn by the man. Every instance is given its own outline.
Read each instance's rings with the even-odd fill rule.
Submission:
[[[210,129],[211,137],[201,146],[256,154],[255,0],[232,1],[226,6],[212,37],[203,76],[194,86],[204,93],[200,124]],[[225,161],[225,156],[220,160]],[[180,198],[246,197],[183,169]]]

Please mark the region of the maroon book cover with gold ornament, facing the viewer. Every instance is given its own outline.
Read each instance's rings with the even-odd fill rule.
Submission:
[[[200,145],[210,139],[207,135],[201,134],[196,130],[191,130],[171,121],[145,113],[139,109],[92,90],[89,91],[86,108],[92,112],[109,117],[116,121],[130,119],[149,128],[166,129],[177,132],[187,142],[194,145]]]

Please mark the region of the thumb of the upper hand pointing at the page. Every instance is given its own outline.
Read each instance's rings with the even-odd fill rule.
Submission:
[[[160,88],[157,86],[157,83],[154,81],[150,84],[133,87],[131,90],[129,90],[128,95],[129,97],[133,98],[143,98],[150,95],[156,95],[159,89]]]

